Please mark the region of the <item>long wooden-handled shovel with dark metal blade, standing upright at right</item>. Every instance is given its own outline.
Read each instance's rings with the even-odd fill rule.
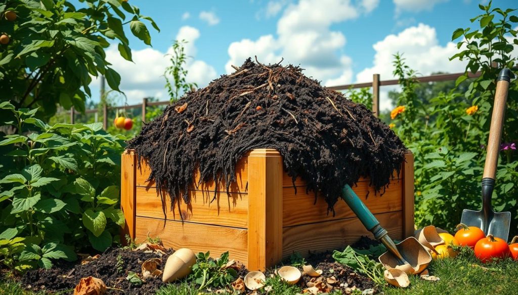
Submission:
[[[496,167],[500,151],[503,117],[506,111],[507,92],[511,81],[511,71],[502,69],[496,83],[493,117],[487,143],[487,156],[482,178],[482,209],[480,211],[464,209],[461,223],[481,228],[486,235],[493,235],[507,241],[511,212],[495,212],[491,205],[491,196],[495,187]]]

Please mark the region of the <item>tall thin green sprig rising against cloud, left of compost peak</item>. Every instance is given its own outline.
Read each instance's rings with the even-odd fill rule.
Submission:
[[[176,40],[175,43],[172,44],[172,54],[169,54],[170,65],[164,72],[166,81],[165,88],[167,89],[171,102],[179,100],[185,92],[198,87],[196,83],[187,83],[185,80],[188,73],[185,69],[185,63],[188,57],[184,52],[185,43],[187,43],[185,40]]]

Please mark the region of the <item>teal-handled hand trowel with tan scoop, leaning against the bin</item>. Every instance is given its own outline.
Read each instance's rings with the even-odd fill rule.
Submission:
[[[374,237],[385,245],[388,252],[380,256],[380,261],[386,261],[382,262],[385,267],[388,265],[391,268],[399,268],[407,273],[419,273],[426,268],[431,261],[431,256],[417,239],[410,237],[401,243],[395,244],[389,237],[389,233],[386,229],[381,227],[380,222],[372,215],[362,200],[358,198],[349,184],[344,185],[341,197],[346,201],[354,214],[358,216],[358,219],[365,228],[372,232]],[[382,257],[384,257],[384,259],[382,259]]]

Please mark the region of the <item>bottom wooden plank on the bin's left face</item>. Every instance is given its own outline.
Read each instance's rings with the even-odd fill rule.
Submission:
[[[194,253],[210,251],[213,258],[228,251],[231,259],[247,265],[247,230],[208,224],[136,218],[137,240],[159,237],[172,249],[189,248]]]

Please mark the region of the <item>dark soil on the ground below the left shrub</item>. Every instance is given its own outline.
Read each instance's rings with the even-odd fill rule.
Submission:
[[[172,251],[170,252],[172,253]],[[169,253],[168,253],[169,254]],[[118,269],[118,256],[123,263]],[[86,265],[74,263],[56,264],[52,269],[37,269],[27,272],[21,283],[34,291],[62,291],[74,289],[82,277],[93,276],[104,281],[106,286],[122,289],[124,291],[108,289],[107,294],[154,294],[162,283],[162,277],[148,279],[141,286],[132,285],[126,280],[128,272],[141,272],[141,263],[150,258],[159,257],[158,253],[145,253],[143,251],[131,251],[121,248],[111,248],[106,250],[101,256]],[[162,257],[160,269],[164,269],[167,256]],[[70,293],[74,291],[71,290]]]

